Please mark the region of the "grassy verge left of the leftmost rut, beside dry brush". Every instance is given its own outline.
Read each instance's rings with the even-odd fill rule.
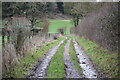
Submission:
[[[23,78],[25,75],[28,75],[28,71],[33,69],[33,64],[37,64],[38,60],[40,58],[43,58],[45,54],[48,52],[48,50],[55,45],[57,45],[61,40],[65,39],[64,37],[59,38],[58,40],[54,40],[52,43],[45,43],[40,48],[37,48],[32,55],[31,53],[28,53],[27,56],[21,59],[19,64],[16,64],[13,67],[13,70],[9,73],[5,73],[3,78]]]

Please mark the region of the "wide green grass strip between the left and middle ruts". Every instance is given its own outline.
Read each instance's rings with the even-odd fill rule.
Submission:
[[[67,40],[64,41],[63,44],[58,48],[56,54],[50,62],[50,65],[47,70],[47,78],[64,78],[65,70],[64,70],[64,61],[63,61],[63,53],[64,46],[67,43]]]

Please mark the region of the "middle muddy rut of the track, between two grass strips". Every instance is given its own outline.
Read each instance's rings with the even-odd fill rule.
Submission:
[[[65,45],[65,51],[64,51],[64,65],[66,70],[66,78],[81,78],[77,70],[75,69],[74,64],[70,60],[69,46],[70,46],[70,40],[68,40],[67,44]]]

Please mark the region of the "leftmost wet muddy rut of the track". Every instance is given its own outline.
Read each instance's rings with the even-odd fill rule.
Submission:
[[[61,41],[57,46],[53,47],[48,51],[45,58],[42,60],[40,65],[38,65],[37,69],[34,72],[32,72],[32,76],[30,76],[29,78],[45,78],[46,77],[46,70],[49,66],[49,63],[52,57],[54,56],[54,54],[56,53],[57,49],[63,42],[64,40]]]

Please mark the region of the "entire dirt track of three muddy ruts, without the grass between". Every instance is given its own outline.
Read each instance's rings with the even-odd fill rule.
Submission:
[[[72,63],[70,59],[70,56],[69,56],[70,40],[68,40],[68,42],[64,47],[64,54],[63,54],[63,60],[65,65],[64,66],[65,77],[66,78],[83,78],[84,76],[85,78],[100,78],[101,75],[99,74],[98,70],[95,68],[95,65],[92,63],[89,56],[84,53],[84,51],[82,50],[82,48],[74,38],[72,42],[76,51],[76,56],[80,63],[79,65],[82,68],[83,75],[78,74],[78,71],[74,66],[74,63]],[[29,78],[45,78],[46,77],[46,71],[49,67],[50,61],[52,60],[54,54],[57,52],[59,46],[63,43],[64,43],[64,40],[48,51],[44,59],[40,62],[37,68],[31,73]]]

